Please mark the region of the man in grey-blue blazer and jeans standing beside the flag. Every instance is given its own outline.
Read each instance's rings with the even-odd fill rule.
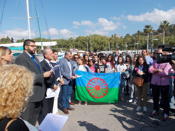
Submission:
[[[60,65],[61,76],[63,77],[64,80],[64,84],[61,86],[58,99],[58,107],[65,114],[69,114],[68,110],[74,110],[69,105],[69,99],[72,94],[72,79],[76,78],[73,72],[70,52],[65,53],[65,57],[59,61],[59,65]]]

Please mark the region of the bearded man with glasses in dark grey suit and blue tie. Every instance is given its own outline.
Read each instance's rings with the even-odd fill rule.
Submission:
[[[30,39],[25,40],[23,48],[24,52],[16,58],[15,63],[25,66],[32,71],[35,74],[35,80],[33,95],[29,98],[29,102],[21,117],[35,125],[41,112],[42,101],[45,96],[44,78],[50,77],[52,72],[47,71],[43,73],[39,60],[34,55],[36,51],[35,41]]]

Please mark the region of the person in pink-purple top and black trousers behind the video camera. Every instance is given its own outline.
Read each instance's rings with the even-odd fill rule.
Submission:
[[[160,47],[157,51],[159,54],[165,54]],[[161,101],[163,106],[163,120],[167,120],[169,116],[169,71],[172,66],[169,62],[158,63],[157,59],[149,68],[149,72],[152,73],[151,84],[153,95],[153,112],[152,116],[159,114],[159,96],[161,95]]]

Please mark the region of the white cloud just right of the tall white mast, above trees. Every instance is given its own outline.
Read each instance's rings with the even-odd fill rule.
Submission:
[[[76,35],[73,34],[68,29],[56,29],[56,28],[49,28],[48,31],[43,32],[44,35],[50,35],[52,38],[70,38],[75,37]]]

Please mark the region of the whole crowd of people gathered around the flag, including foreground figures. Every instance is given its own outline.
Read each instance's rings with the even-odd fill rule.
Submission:
[[[25,40],[23,48],[24,52],[12,64],[11,50],[0,47],[0,130],[8,128],[13,131],[15,125],[29,130],[29,123],[34,126],[37,122],[40,124],[47,113],[53,111],[56,99],[57,108],[69,114],[74,110],[71,105],[75,102],[73,94],[76,90],[77,70],[104,75],[120,72],[120,101],[136,102],[137,112],[147,112],[149,94],[153,98],[151,115],[159,115],[161,104],[163,120],[169,117],[170,96],[175,95],[172,82],[174,77],[170,77],[171,74],[175,74],[175,62],[157,62],[156,53],[167,54],[161,47],[155,50],[154,54],[147,50],[143,50],[141,54],[120,53],[119,50],[113,54],[72,54],[67,51],[60,60],[58,52],[47,47],[43,50],[42,61],[35,56],[35,41]],[[140,80],[142,82],[138,83]],[[58,89],[60,92],[56,99],[47,97],[48,90]],[[84,103],[88,104],[86,101]],[[26,121],[29,123],[26,124]]]

